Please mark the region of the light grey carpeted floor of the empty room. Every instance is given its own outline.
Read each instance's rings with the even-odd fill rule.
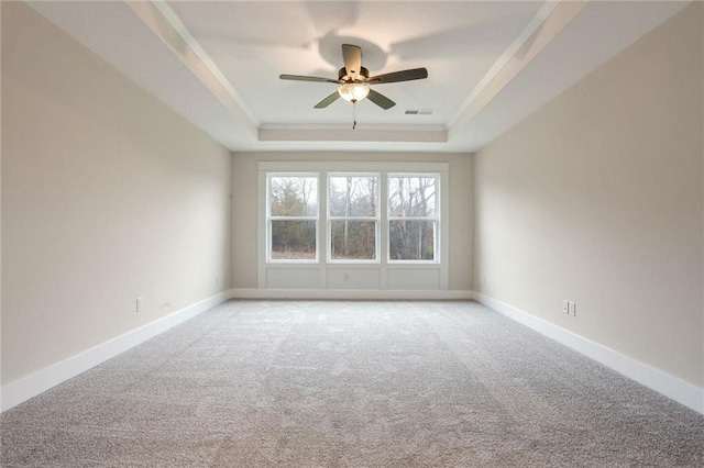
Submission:
[[[704,416],[474,302],[231,301],[0,423],[3,467],[704,466]]]

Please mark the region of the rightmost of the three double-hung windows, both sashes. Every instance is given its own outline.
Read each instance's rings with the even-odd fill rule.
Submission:
[[[388,176],[388,259],[436,261],[439,176]]]

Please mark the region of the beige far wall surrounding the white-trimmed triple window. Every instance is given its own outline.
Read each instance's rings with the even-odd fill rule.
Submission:
[[[232,283],[257,287],[257,170],[258,161],[429,161],[450,165],[451,290],[472,287],[472,158],[442,153],[235,153],[232,163]]]

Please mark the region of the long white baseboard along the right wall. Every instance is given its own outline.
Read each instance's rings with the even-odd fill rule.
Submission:
[[[704,414],[704,389],[480,292],[474,299],[663,395]]]

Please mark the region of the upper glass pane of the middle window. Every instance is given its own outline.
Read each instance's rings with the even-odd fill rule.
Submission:
[[[376,216],[376,177],[331,177],[331,216]]]

